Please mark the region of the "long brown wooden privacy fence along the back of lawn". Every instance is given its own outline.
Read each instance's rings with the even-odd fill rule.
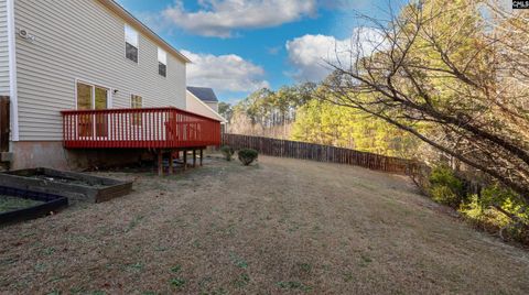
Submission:
[[[223,144],[236,150],[253,149],[264,155],[347,164],[389,173],[411,175],[417,168],[417,163],[411,160],[307,142],[224,133]]]

